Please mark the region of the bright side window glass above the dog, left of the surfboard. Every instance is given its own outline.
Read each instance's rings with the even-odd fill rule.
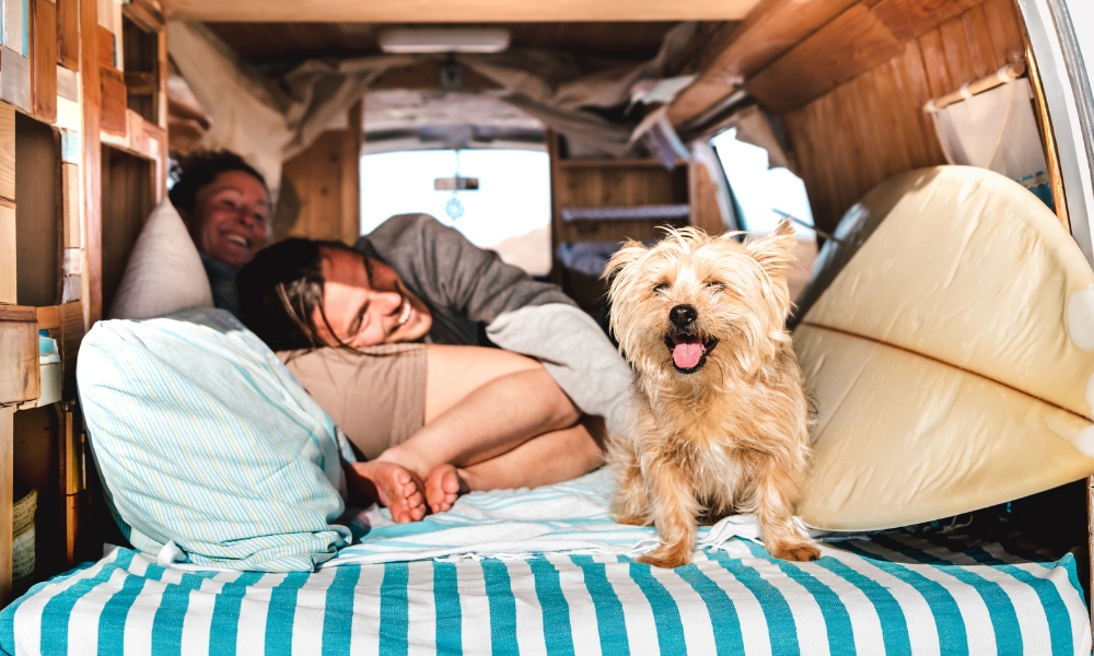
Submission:
[[[801,221],[794,222],[798,238],[815,239],[813,231],[802,225],[813,225],[813,211],[802,178],[781,166],[768,168],[767,151],[738,141],[736,134],[736,128],[730,128],[710,144],[725,172],[742,230],[766,235],[784,214],[790,214]]]

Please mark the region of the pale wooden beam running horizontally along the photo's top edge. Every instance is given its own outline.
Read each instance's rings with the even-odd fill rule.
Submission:
[[[184,21],[331,23],[510,23],[592,21],[740,21],[756,0],[171,0]]]

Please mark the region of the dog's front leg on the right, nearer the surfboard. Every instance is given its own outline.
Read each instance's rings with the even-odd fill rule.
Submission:
[[[756,515],[764,534],[764,548],[775,558],[805,562],[821,558],[812,538],[794,526],[794,499],[798,482],[785,472],[768,466],[756,484]]]

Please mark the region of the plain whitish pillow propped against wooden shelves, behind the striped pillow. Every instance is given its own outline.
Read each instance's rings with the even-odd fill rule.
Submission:
[[[201,256],[178,210],[164,197],[137,237],[107,316],[148,319],[212,305]]]

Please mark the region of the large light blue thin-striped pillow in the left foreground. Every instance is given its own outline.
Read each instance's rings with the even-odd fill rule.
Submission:
[[[77,366],[103,481],[133,547],[306,571],[346,546],[330,419],[231,314],[100,321]]]

